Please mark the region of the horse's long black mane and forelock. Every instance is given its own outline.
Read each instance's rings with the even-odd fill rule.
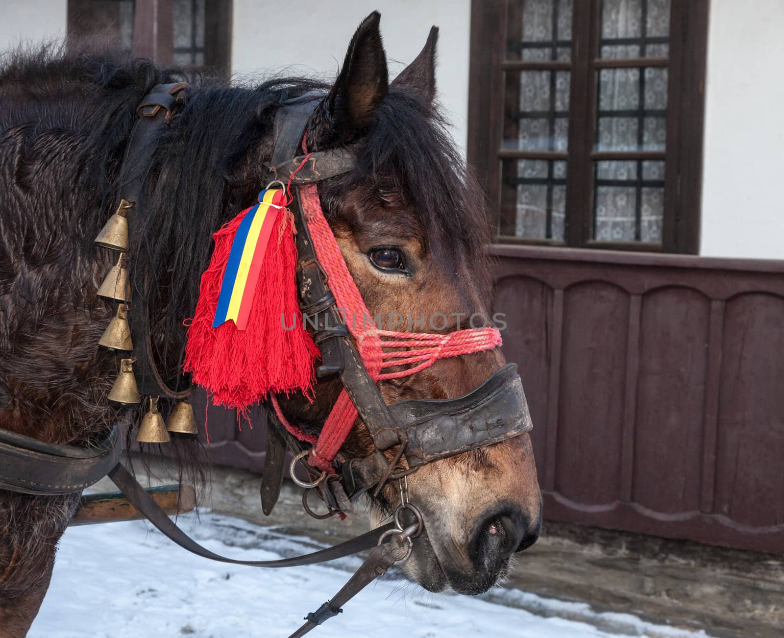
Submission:
[[[15,165],[5,172],[14,175],[14,201],[4,204],[11,219],[0,223],[0,230],[7,223],[29,223],[30,232],[0,241],[0,269],[24,253],[24,247],[13,245],[14,236],[27,241],[41,235],[36,245],[51,248],[51,237],[65,234],[67,241],[54,247],[61,266],[84,269],[94,263],[100,250],[93,237],[113,212],[115,179],[136,104],[154,85],[187,76],[117,51],[65,53],[48,47],[5,55],[0,140],[16,150],[13,158],[2,158]],[[305,92],[328,90],[310,78],[273,78],[253,88],[190,79],[154,154],[146,219],[129,252],[133,310],[157,321],[154,342],[172,381],[180,370],[183,320],[194,311],[212,233],[250,205],[268,179],[263,165],[272,150],[275,109]],[[431,250],[443,252],[445,259],[484,261],[489,230],[484,201],[474,180],[466,179],[462,158],[430,100],[393,86],[360,145],[354,172],[323,186],[326,201],[371,176],[379,188],[404,194],[423,219]],[[47,216],[45,227],[21,219],[25,210],[42,207],[62,215]],[[329,211],[328,204],[325,208]],[[76,263],[66,266],[64,251],[74,245],[81,247],[71,252]],[[54,258],[51,250],[40,256]]]

